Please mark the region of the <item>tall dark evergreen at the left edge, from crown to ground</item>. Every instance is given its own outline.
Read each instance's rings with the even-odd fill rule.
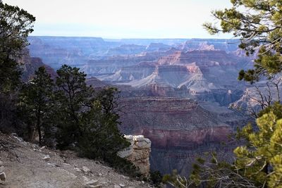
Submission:
[[[27,46],[27,36],[32,32],[33,17],[17,6],[0,0],[0,130],[15,132],[16,94],[21,71],[18,58]]]

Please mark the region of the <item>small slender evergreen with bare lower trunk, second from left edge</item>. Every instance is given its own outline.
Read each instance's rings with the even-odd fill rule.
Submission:
[[[34,139],[37,130],[39,144],[42,144],[42,127],[48,129],[52,111],[54,83],[44,67],[35,71],[35,77],[23,85],[19,94],[19,104],[24,122],[27,125],[29,140]]]

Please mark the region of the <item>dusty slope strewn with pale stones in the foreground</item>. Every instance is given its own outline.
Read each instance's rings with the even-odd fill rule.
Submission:
[[[1,169],[4,174],[0,187],[5,188],[150,187],[146,182],[116,173],[99,161],[78,158],[71,151],[39,147],[0,132]]]

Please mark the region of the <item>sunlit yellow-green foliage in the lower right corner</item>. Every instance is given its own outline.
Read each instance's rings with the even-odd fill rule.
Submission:
[[[243,128],[249,144],[235,149],[235,166],[257,186],[282,187],[282,119],[271,111],[257,119],[257,126],[257,131]]]

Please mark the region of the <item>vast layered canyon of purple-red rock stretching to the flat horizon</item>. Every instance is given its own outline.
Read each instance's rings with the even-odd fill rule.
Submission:
[[[237,80],[240,70],[252,68],[252,57],[238,49],[235,39],[29,41],[30,55],[48,67],[77,66],[87,74],[87,84],[121,91],[119,128],[123,134],[142,134],[152,141],[152,170],[178,169],[187,175],[195,158],[208,151],[231,157],[236,145],[221,143],[229,143],[230,134],[249,120],[228,108],[245,104],[246,91],[252,89]]]

